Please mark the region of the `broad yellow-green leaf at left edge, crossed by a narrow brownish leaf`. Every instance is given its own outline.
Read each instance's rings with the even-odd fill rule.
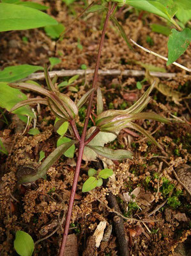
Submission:
[[[27,96],[18,89],[13,89],[7,83],[0,82],[0,107],[10,111],[17,103],[27,99]],[[13,112],[14,114],[29,115],[34,118],[34,114],[28,106],[21,107]]]

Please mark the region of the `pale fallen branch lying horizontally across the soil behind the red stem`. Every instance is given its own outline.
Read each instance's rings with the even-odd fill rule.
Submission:
[[[50,71],[49,75],[50,78],[53,78],[56,74],[58,77],[64,77],[64,76],[75,76],[76,74],[79,74],[80,76],[85,76],[85,74],[93,74],[94,69],[77,69],[77,70],[65,70],[62,69],[60,71]],[[125,69],[123,71],[118,69],[109,69],[109,70],[98,70],[98,74],[102,76],[144,76],[145,71],[141,70],[134,70],[134,69]],[[151,76],[156,76],[158,78],[174,78],[177,76],[176,73],[163,73],[163,72],[150,72]],[[188,75],[184,75],[186,77]],[[45,74],[42,72],[33,73],[30,76],[27,76],[27,78],[24,78],[22,81],[26,80],[43,80],[45,78]]]

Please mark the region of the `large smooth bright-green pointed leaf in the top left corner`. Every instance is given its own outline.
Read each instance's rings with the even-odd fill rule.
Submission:
[[[39,10],[18,4],[0,3],[0,32],[29,30],[56,24],[55,19]]]

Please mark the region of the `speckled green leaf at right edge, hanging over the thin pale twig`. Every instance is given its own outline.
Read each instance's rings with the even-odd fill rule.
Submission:
[[[183,31],[176,31],[174,28],[171,30],[171,35],[168,41],[168,61],[167,65],[175,62],[183,53],[191,42],[191,30],[185,28]]]

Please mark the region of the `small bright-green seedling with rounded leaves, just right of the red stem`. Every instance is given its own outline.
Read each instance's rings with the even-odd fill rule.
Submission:
[[[95,169],[90,168],[88,170],[89,178],[88,180],[86,180],[86,182],[84,182],[84,185],[82,187],[82,192],[88,192],[95,189],[95,187],[102,186],[103,184],[102,179],[107,179],[112,175],[113,175],[112,169],[103,169],[98,173],[98,171],[96,171]]]

